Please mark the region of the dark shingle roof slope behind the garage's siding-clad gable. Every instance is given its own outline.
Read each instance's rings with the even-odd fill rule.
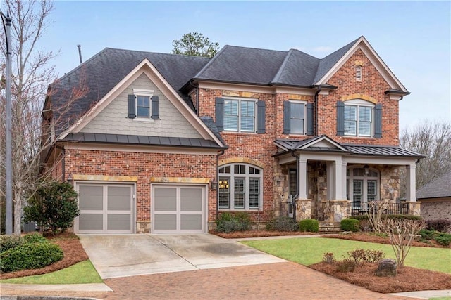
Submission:
[[[56,132],[60,133],[81,117],[92,105],[111,91],[128,73],[142,60],[147,58],[161,73],[169,84],[180,93],[179,89],[189,81],[194,74],[209,62],[209,58],[197,56],[181,56],[165,53],[151,53],[122,49],[105,48],[85,63],[76,67],[68,74],[51,84],[52,105],[64,107],[70,98],[74,87],[78,87],[80,79],[85,79],[89,92],[71,104],[69,112],[63,115],[62,122],[56,124]],[[190,100],[180,93],[192,107]],[[59,119],[55,110],[55,119]]]

